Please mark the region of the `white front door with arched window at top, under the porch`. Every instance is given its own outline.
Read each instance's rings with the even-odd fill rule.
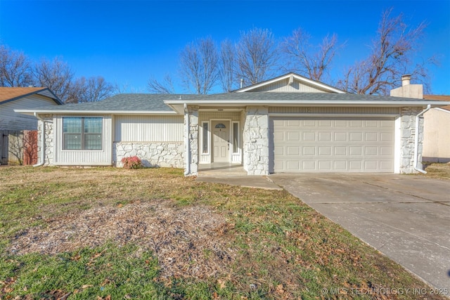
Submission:
[[[230,122],[212,122],[212,161],[230,162]]]

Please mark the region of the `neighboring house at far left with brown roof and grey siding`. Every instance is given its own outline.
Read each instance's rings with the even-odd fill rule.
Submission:
[[[36,117],[14,110],[60,104],[63,103],[48,88],[0,87],[0,129],[37,130]]]

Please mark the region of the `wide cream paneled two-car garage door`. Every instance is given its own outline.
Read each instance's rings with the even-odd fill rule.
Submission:
[[[272,118],[271,172],[393,172],[394,119]]]

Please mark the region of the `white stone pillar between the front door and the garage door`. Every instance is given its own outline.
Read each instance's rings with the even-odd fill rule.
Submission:
[[[247,107],[243,129],[244,169],[248,175],[269,175],[269,109]]]

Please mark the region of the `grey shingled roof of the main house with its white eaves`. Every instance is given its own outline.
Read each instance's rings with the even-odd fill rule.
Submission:
[[[423,100],[392,96],[356,95],[353,93],[219,93],[212,95],[180,94],[118,94],[93,103],[46,106],[34,110],[17,110],[23,113],[84,113],[84,114],[160,114],[183,113],[184,104],[210,107],[244,107],[245,105],[267,106],[359,106],[359,107],[440,107],[450,105],[438,100]],[[172,109],[171,109],[172,107]]]

